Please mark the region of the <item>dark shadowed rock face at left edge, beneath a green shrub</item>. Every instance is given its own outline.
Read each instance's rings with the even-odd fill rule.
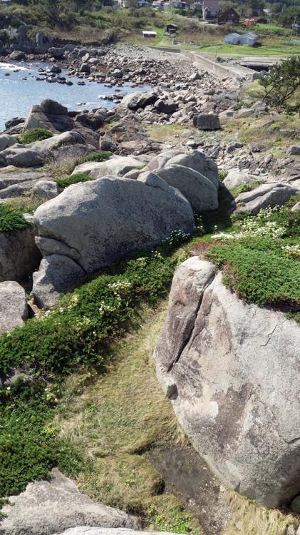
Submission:
[[[33,228],[0,233],[0,282],[22,280],[36,269],[40,260]]]

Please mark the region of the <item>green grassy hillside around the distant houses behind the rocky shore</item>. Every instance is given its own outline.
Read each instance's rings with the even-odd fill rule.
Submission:
[[[68,6],[68,3],[66,4]],[[152,9],[117,9],[109,7],[98,11],[81,10],[74,12],[66,9],[61,13],[58,23],[48,16],[43,3],[21,6],[13,4],[0,9],[0,15],[11,17],[13,24],[24,21],[33,25],[34,31],[45,30],[57,39],[65,41],[81,41],[93,43],[100,41],[113,31],[118,39],[135,44],[151,46],[171,46],[187,50],[196,50],[209,55],[224,56],[288,56],[299,54],[300,45],[289,43],[289,30],[272,24],[258,24],[251,30],[259,34],[262,46],[233,46],[224,44],[223,38],[229,31],[227,25],[200,25],[197,17],[182,16],[177,10],[154,11]],[[57,17],[56,17],[57,18]],[[168,23],[175,23],[179,28],[176,36],[178,44],[173,39],[164,36],[163,30]],[[157,32],[155,39],[143,39],[143,29]],[[245,32],[246,26],[234,26],[234,31]],[[176,42],[175,41],[175,42]]]

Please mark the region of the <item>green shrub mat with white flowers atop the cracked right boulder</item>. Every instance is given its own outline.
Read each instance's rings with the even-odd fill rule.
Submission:
[[[300,213],[291,212],[296,200],[261,210],[257,218],[237,218],[229,233],[217,235],[223,243],[207,252],[207,258],[224,270],[227,287],[246,302],[300,310]]]

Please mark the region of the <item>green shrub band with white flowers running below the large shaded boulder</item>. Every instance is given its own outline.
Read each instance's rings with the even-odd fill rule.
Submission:
[[[36,376],[51,377],[80,364],[103,365],[103,343],[123,331],[142,297],[155,301],[165,293],[173,265],[160,253],[145,253],[119,265],[118,274],[99,275],[62,297],[51,312],[0,338],[1,372],[26,365]]]

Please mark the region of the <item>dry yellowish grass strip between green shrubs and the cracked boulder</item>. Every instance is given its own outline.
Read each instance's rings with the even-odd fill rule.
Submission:
[[[56,424],[60,437],[86,458],[78,476],[82,491],[140,514],[151,529],[199,533],[199,524],[175,496],[162,493],[160,475],[144,456],[156,445],[185,443],[152,362],[166,308],[162,301],[156,310],[140,312],[135,330],[110,348],[107,373],[76,374],[66,381]]]

